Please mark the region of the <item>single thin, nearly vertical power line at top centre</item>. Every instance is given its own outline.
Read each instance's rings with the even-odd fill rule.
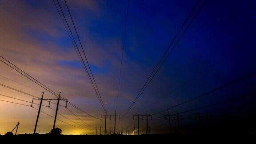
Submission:
[[[117,107],[117,103],[118,103],[118,96],[119,96],[119,91],[120,91],[120,82],[121,82],[121,73],[122,73],[122,67],[123,67],[123,61],[124,61],[124,45],[125,45],[126,30],[127,30],[127,21],[128,21],[129,2],[130,2],[130,0],[128,0],[127,10],[126,10],[125,27],[124,27],[124,40],[123,40],[122,59],[121,59],[121,66],[120,66],[119,80],[118,80],[118,89],[117,89],[116,107]]]

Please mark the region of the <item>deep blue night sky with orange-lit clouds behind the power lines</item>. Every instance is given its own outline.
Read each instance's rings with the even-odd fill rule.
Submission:
[[[196,0],[129,0],[129,5],[128,0],[67,0],[67,3],[107,112],[113,114],[116,110],[123,116]],[[72,26],[64,0],[60,0],[60,5]],[[132,130],[136,126],[132,115],[137,111],[154,114],[248,74],[250,77],[169,112],[176,114],[239,96],[255,96],[255,33],[255,0],[208,0],[136,104],[117,121],[118,128],[128,126]],[[123,43],[124,59],[117,100]],[[62,92],[64,98],[85,112],[98,118],[104,114],[52,0],[0,0],[0,56],[55,92]],[[38,97],[44,91],[46,97],[56,98],[1,61],[0,84]],[[31,96],[3,86],[0,86],[0,94],[32,101]],[[29,104],[1,95],[0,100]],[[255,97],[244,97],[183,115],[200,112],[250,114],[255,108],[255,100]],[[94,119],[70,105],[68,108],[93,128],[104,125],[104,119]],[[54,116],[55,112],[49,108],[41,110]],[[59,112],[89,128],[76,128],[57,120],[56,126],[62,128],[64,134],[95,133],[66,108],[60,108]],[[152,118],[167,113],[158,113]],[[0,134],[11,131],[17,122],[20,122],[19,133],[32,133],[36,115],[37,110],[31,107],[0,101]],[[76,125],[62,116],[58,115],[58,118]],[[168,131],[168,124],[163,119],[150,121],[155,132]],[[107,128],[113,127],[113,119],[107,122]],[[49,132],[52,123],[53,118],[41,113],[37,131]],[[141,124],[144,128],[145,121]]]

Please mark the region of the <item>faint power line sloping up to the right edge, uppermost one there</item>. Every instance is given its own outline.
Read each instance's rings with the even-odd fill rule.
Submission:
[[[223,89],[223,88],[226,88],[226,87],[228,87],[228,86],[230,86],[230,85],[232,85],[232,84],[239,83],[240,81],[243,81],[243,80],[248,79],[248,78],[250,78],[250,77],[253,77],[253,76],[255,76],[255,75],[256,75],[256,72],[249,73],[249,74],[244,75],[244,76],[242,76],[242,77],[240,77],[240,78],[238,78],[238,79],[231,80],[231,81],[229,81],[228,83],[223,84],[223,85],[221,85],[221,86],[219,86],[219,87],[216,87],[216,88],[214,88],[214,89],[212,89],[212,90],[210,90],[210,91],[208,91],[208,92],[204,92],[203,94],[200,94],[199,96],[193,97],[192,99],[189,99],[189,100],[185,100],[184,102],[182,102],[182,103],[180,103],[180,104],[176,104],[176,105],[174,105],[174,106],[172,106],[172,107],[170,107],[170,108],[166,108],[166,109],[164,109],[164,110],[162,110],[162,111],[160,111],[160,112],[156,112],[156,113],[154,113],[154,114],[152,114],[152,115],[156,115],[156,114],[159,114],[159,113],[161,113],[161,112],[168,111],[168,110],[170,110],[170,109],[172,109],[172,108],[176,108],[176,107],[178,107],[178,106],[180,106],[180,105],[186,104],[186,103],[188,103],[188,102],[190,102],[190,101],[192,101],[192,100],[196,100],[196,99],[198,99],[198,98],[200,98],[200,97],[207,96],[207,95],[211,94],[212,92],[216,92],[216,91],[218,91],[218,90],[220,90],[220,89]]]

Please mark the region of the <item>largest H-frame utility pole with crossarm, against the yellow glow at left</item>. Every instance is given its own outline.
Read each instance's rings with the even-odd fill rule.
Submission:
[[[61,93],[61,92],[60,92],[60,93]],[[33,98],[33,99],[32,99],[32,103],[31,103],[31,107],[32,107],[34,100],[41,100],[41,101],[40,101],[39,108],[38,108],[38,114],[37,114],[37,118],[36,118],[36,125],[35,125],[35,129],[34,129],[34,133],[36,133],[36,127],[37,127],[37,123],[38,123],[38,119],[39,119],[39,115],[40,115],[40,109],[41,109],[43,100],[49,100],[49,105],[48,105],[48,107],[50,107],[51,100],[58,100],[58,102],[57,102],[57,107],[56,107],[56,112],[55,112],[54,123],[53,123],[53,128],[55,128],[56,117],[57,117],[57,113],[58,113],[58,107],[59,107],[60,100],[64,100],[64,101],[66,102],[65,108],[67,108],[67,104],[68,104],[68,100],[67,100],[67,99],[60,99],[60,94],[59,94],[58,99],[44,99],[43,96],[44,96],[44,92],[43,92],[42,98],[40,98],[40,99],[39,99],[39,98],[38,98],[38,99]]]

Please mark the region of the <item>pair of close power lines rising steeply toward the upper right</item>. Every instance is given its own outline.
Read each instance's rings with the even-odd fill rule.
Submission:
[[[179,43],[179,41],[181,40],[181,38],[184,36],[185,32],[187,32],[188,28],[191,26],[192,22],[196,19],[196,16],[200,13],[201,9],[204,7],[204,5],[206,4],[208,0],[204,0],[204,3],[200,6],[200,8],[198,9],[198,11],[196,12],[196,14],[192,17],[192,20],[190,21],[190,23],[187,25],[187,27],[185,28],[184,32],[181,33],[180,37],[176,40],[176,37],[178,36],[178,34],[181,32],[181,29],[184,27],[185,23],[188,21],[188,18],[192,15],[192,13],[194,12],[197,4],[199,3],[199,0],[196,2],[196,4],[194,5],[194,7],[192,8],[192,11],[189,13],[188,17],[186,18],[186,20],[184,21],[184,23],[181,25],[179,31],[176,33],[176,36],[174,37],[174,39],[172,40],[172,42],[169,44],[167,50],[164,52],[164,55],[161,57],[161,59],[159,60],[158,64],[156,65],[156,67],[154,68],[154,70],[152,71],[151,75],[148,77],[148,80],[146,81],[146,83],[144,84],[144,86],[140,89],[140,92],[138,93],[138,95],[136,96],[135,100],[133,100],[132,104],[130,105],[130,107],[128,108],[128,110],[124,113],[124,115],[122,116],[122,118],[131,110],[131,108],[133,107],[133,105],[136,103],[136,101],[139,99],[139,97],[142,95],[142,93],[144,92],[144,90],[148,87],[148,84],[151,83],[152,79],[154,78],[154,76],[156,75],[156,73],[159,71],[159,69],[162,67],[162,65],[164,64],[164,62],[167,60],[168,56],[172,53],[172,51],[174,50],[174,48],[176,47],[176,45]],[[172,46],[172,49],[168,52],[168,49],[171,47],[171,45],[173,44],[174,40],[176,40],[176,43]],[[167,56],[165,56],[165,54],[168,52]],[[165,56],[165,58],[164,58]],[[160,64],[160,62],[162,61],[162,63]],[[160,64],[160,66],[158,67],[158,65]]]

